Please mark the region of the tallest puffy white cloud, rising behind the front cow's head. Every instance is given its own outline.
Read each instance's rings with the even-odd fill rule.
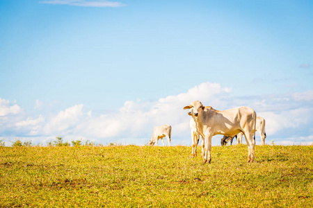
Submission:
[[[177,96],[167,96],[155,102],[126,101],[118,114],[106,114],[88,121],[86,134],[93,137],[146,137],[150,139],[155,125],[172,125],[173,137],[189,137],[189,119],[183,107],[194,100],[217,104],[230,89],[217,83],[202,83]]]

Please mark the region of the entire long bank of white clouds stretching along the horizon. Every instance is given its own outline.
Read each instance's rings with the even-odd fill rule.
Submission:
[[[38,100],[34,106],[38,114],[30,114],[15,102],[0,98],[0,139],[3,138],[7,145],[10,145],[8,138],[12,141],[14,137],[46,144],[61,135],[65,140],[88,138],[102,144],[115,141],[143,145],[150,139],[155,125],[168,123],[172,125],[173,145],[191,144],[190,117],[182,108],[195,100],[218,110],[241,105],[252,107],[258,116],[266,119],[267,144],[272,139],[281,144],[313,142],[312,91],[239,97],[232,89],[218,83],[201,83],[187,92],[157,101],[125,101],[114,112],[99,115],[86,110],[83,104],[47,114],[40,111],[45,105]],[[213,144],[219,143],[218,140],[212,141]]]

